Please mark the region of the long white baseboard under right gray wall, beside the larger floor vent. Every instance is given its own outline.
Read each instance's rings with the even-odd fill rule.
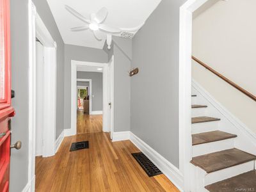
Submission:
[[[147,143],[138,138],[135,134],[130,132],[130,140],[136,147],[138,147],[145,156],[154,163],[161,172],[164,173],[168,179],[172,181],[172,183],[180,190],[183,190],[184,186],[184,177],[180,170],[175,167],[172,163],[166,160],[163,156],[156,152],[153,148],[151,148]]]

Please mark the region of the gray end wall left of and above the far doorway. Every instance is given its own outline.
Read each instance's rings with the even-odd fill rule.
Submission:
[[[71,60],[108,63],[108,54],[102,49],[65,45],[65,94],[64,121],[65,129],[70,129],[71,122]]]

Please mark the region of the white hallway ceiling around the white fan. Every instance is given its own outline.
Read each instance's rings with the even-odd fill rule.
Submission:
[[[106,39],[98,41],[90,29],[86,31],[70,31],[70,28],[84,23],[65,9],[65,4],[77,12],[90,18],[90,13],[97,13],[105,6],[108,9],[104,24],[117,28],[134,28],[140,26],[155,10],[161,0],[47,0],[52,15],[60,30],[65,44],[80,45],[102,49]]]

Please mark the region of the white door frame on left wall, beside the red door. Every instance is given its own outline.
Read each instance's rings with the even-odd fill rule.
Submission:
[[[28,184],[35,191],[35,123],[36,123],[36,38],[44,45],[44,134],[43,157],[55,155],[56,148],[56,49],[57,44],[28,1],[29,20],[29,166]]]

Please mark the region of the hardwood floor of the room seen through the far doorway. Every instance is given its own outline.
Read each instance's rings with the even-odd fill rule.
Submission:
[[[77,111],[77,134],[102,132],[102,115],[88,115]]]

